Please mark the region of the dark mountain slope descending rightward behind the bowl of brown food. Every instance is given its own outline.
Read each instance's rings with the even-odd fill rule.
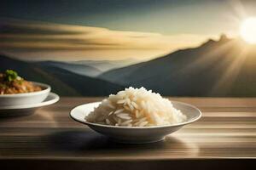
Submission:
[[[0,71],[13,69],[27,80],[49,84],[52,91],[60,95],[105,96],[123,88],[116,83],[82,76],[54,65],[21,61],[3,54],[0,55],[0,65]]]

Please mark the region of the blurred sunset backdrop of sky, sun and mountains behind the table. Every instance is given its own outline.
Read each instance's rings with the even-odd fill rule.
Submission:
[[[2,0],[0,71],[62,96],[256,96],[256,1]]]

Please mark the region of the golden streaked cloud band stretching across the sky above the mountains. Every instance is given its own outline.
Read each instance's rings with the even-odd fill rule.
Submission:
[[[123,60],[131,58],[149,60],[181,48],[195,48],[207,39],[218,38],[218,36],[209,35],[165,36],[152,32],[113,31],[102,27],[73,26],[31,20],[3,20],[0,26],[3,28],[3,33],[0,35],[3,38],[3,42],[0,42],[2,52],[21,59],[32,60]],[[7,33],[4,32],[5,27],[9,29]],[[21,33],[17,34],[16,31]],[[52,35],[52,31],[55,35]],[[67,35],[65,33],[62,35],[62,31],[67,31]],[[83,38],[83,34],[99,34],[99,36],[91,35],[88,40],[87,37]],[[46,42],[47,39],[49,42]],[[7,41],[4,42],[4,40]],[[75,41],[81,43],[84,41],[84,44],[77,45]],[[120,58],[120,55],[123,57]]]

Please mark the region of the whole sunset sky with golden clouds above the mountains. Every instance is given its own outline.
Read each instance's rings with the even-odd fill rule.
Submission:
[[[256,15],[241,0],[2,0],[0,50],[20,59],[152,59]]]

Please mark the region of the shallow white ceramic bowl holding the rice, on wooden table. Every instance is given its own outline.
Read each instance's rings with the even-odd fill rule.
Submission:
[[[172,105],[178,110],[181,110],[183,114],[188,117],[186,122],[154,127],[116,127],[87,122],[84,120],[84,117],[87,116],[90,111],[93,111],[99,104],[100,102],[79,105],[70,112],[70,116],[75,121],[84,123],[96,132],[107,135],[111,139],[121,143],[143,144],[157,142],[164,139],[167,134],[173,133],[184,125],[195,122],[201,117],[201,111],[195,106],[172,101]]]

